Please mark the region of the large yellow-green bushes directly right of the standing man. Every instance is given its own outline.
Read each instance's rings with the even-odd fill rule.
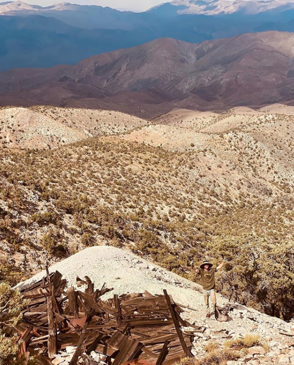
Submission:
[[[294,315],[294,247],[270,244],[254,234],[214,237],[207,245],[211,257],[224,254],[228,262],[218,279],[229,299],[290,320]]]

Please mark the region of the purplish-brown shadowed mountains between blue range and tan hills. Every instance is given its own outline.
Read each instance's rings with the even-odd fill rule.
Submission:
[[[76,65],[0,72],[2,105],[106,108],[150,118],[174,107],[294,102],[294,34],[188,43],[161,38]]]

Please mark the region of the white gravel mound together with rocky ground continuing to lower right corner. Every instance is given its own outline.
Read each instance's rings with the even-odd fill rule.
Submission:
[[[195,332],[193,353],[200,356],[205,353],[204,347],[209,340],[220,345],[228,338],[240,338],[247,333],[258,333],[267,341],[269,351],[256,346],[250,349],[244,358],[232,361],[231,365],[244,363],[258,364],[294,364],[294,325],[262,314],[245,306],[230,311],[231,320],[220,322],[214,318],[205,318],[205,307],[201,287],[196,283],[146,261],[145,259],[120,248],[111,246],[94,246],[86,248],[49,268],[50,272],[58,270],[68,280],[68,285],[76,286],[76,277],[81,279],[87,275],[95,284],[95,288],[113,287],[113,290],[102,297],[113,294],[144,292],[162,294],[167,289],[176,302],[193,309],[185,309],[183,317],[196,325],[206,327],[204,333]],[[23,286],[40,279],[42,271],[30,279],[20,283]],[[217,295],[218,305],[224,306],[229,301]],[[192,328],[191,328],[192,329]],[[281,333],[282,332],[282,333]],[[285,361],[285,362],[284,362]]]

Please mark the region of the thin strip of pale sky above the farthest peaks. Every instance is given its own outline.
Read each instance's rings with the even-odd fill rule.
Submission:
[[[0,2],[3,0],[0,0]],[[101,5],[110,6],[116,9],[123,10],[147,10],[152,6],[158,5],[163,2],[170,2],[172,0],[23,0],[30,4],[37,4],[41,6],[47,6],[56,4],[58,2],[71,2],[82,5]]]

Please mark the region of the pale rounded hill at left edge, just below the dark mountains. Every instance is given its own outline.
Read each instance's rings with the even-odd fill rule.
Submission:
[[[92,136],[123,133],[146,124],[144,119],[111,110],[7,107],[0,110],[0,146],[55,148]]]

